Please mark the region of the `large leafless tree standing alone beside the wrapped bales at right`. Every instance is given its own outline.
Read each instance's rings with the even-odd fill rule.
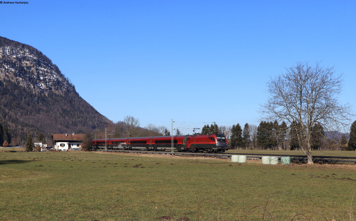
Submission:
[[[261,105],[262,118],[296,122],[299,145],[308,163],[313,163],[311,128],[316,123],[328,129],[346,126],[352,116],[351,106],[337,100],[343,81],[341,75],[333,75],[333,67],[322,67],[320,62],[310,66],[299,61],[286,70],[267,82],[269,97]]]

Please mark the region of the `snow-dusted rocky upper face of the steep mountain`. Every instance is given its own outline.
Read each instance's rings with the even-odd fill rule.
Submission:
[[[1,80],[17,82],[34,93],[54,92],[65,95],[75,92],[74,86],[58,67],[29,45],[1,38],[0,62]]]

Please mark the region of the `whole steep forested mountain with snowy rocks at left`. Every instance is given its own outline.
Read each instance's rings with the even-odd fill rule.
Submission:
[[[79,96],[59,68],[30,45],[0,37],[0,125],[12,138],[85,133],[111,121]],[[1,144],[0,144],[1,145]]]

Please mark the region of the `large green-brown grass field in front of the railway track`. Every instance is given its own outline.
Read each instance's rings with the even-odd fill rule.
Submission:
[[[352,220],[355,191],[355,165],[262,165],[133,153],[0,153],[0,220],[198,220],[198,206],[200,221],[262,220],[261,207],[274,193],[267,210],[276,220],[292,220],[299,213],[314,214],[311,220]],[[255,206],[261,207],[248,212]]]

